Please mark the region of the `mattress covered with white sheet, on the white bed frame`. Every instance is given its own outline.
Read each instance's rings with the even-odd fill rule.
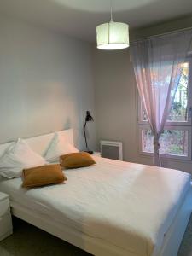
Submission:
[[[127,253],[156,254],[189,190],[190,175],[95,159],[96,166],[65,171],[65,184],[23,189],[20,178],[3,179],[0,190],[21,206]]]

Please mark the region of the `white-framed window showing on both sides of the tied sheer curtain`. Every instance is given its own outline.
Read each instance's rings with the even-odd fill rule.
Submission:
[[[160,137],[160,154],[165,157],[191,160],[191,60],[183,65],[182,76],[172,102],[165,129]],[[141,102],[139,103],[140,153],[152,154],[154,137]]]

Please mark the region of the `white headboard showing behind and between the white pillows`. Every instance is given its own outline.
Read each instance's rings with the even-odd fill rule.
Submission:
[[[62,136],[66,137],[68,143],[74,144],[73,141],[73,129],[57,131]],[[54,132],[49,134],[40,135],[37,137],[29,137],[26,138],[26,143],[38,154],[44,155],[46,149],[49,146],[49,143],[54,136]],[[9,147],[11,143],[0,144],[0,156],[3,154],[4,150]]]

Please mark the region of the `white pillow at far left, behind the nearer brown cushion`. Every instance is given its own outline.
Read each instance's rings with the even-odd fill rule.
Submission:
[[[7,178],[21,177],[24,168],[44,166],[44,158],[32,151],[22,139],[12,143],[0,158],[0,175]]]

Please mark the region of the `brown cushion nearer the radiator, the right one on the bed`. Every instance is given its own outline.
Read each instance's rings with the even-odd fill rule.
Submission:
[[[60,163],[61,167],[66,169],[79,168],[96,164],[95,160],[93,160],[90,154],[86,152],[61,155]]]

